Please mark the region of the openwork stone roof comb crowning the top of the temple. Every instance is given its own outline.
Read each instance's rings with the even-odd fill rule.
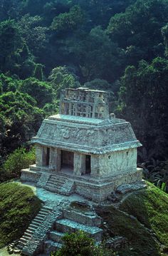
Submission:
[[[109,118],[108,93],[88,88],[62,90],[59,113],[88,118]]]

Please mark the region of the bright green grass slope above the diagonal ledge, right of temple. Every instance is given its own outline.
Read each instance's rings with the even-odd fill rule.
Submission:
[[[168,195],[148,183],[146,190],[132,193],[122,203],[121,210],[137,217],[153,230],[157,239],[168,247]]]

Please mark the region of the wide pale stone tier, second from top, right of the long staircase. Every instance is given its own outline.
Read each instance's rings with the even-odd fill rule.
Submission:
[[[80,224],[79,222],[75,222],[73,220],[61,219],[57,220],[55,224],[55,229],[59,232],[70,233],[78,230],[82,230],[87,232],[88,235],[95,238],[97,241],[101,241],[101,237],[103,234],[103,230],[99,227],[90,227],[88,225]]]

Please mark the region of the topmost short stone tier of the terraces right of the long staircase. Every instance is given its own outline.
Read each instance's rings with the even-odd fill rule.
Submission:
[[[88,225],[88,226],[97,226],[101,225],[101,218],[92,212],[81,212],[77,210],[64,209],[63,210],[63,218],[68,220],[78,220],[80,224]]]

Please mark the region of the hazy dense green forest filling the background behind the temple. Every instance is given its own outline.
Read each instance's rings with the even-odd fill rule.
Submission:
[[[0,180],[34,160],[61,89],[87,86],[110,91],[145,178],[167,191],[167,57],[168,0],[0,0]]]

